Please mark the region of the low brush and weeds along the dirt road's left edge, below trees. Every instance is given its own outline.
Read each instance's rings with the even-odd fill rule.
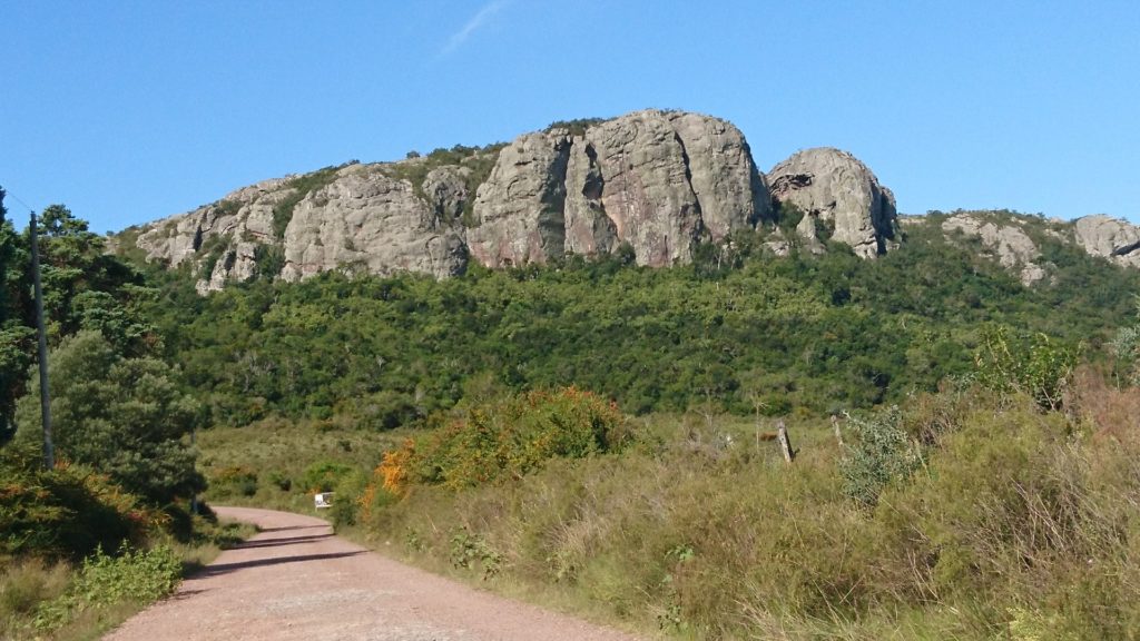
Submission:
[[[95,639],[247,528],[142,502],[105,474],[0,449],[0,639]]]

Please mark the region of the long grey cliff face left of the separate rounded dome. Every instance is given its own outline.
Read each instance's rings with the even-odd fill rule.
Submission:
[[[267,180],[144,228],[149,260],[199,266],[201,292],[331,269],[462,273],[600,255],[687,262],[772,214],[744,136],[656,109],[520,136],[502,148],[351,164]]]

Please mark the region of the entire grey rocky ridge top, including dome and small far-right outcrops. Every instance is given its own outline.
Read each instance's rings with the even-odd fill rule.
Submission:
[[[555,123],[506,145],[410,155],[258,182],[128,229],[115,244],[148,261],[192,265],[205,293],[333,269],[446,278],[470,261],[502,268],[622,248],[638,265],[683,265],[700,243],[747,229],[764,232],[775,254],[793,245],[820,253],[830,242],[874,258],[905,237],[890,189],[849,153],[805,149],[764,173],[739,129],[694,113],[646,109]],[[974,243],[1024,283],[1047,276],[1025,217],[955,212],[939,220],[947,236]],[[1036,227],[1090,254],[1140,265],[1140,229],[1122,220]]]

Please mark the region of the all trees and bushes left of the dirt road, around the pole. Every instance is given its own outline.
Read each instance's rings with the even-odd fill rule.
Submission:
[[[41,213],[55,465],[44,468],[28,235],[0,190],[0,638],[97,639],[249,528],[193,514],[201,404],[157,355],[142,276],[60,205]],[[18,429],[17,429],[18,428]]]

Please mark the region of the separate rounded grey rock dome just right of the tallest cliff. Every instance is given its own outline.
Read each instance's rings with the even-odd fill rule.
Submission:
[[[806,238],[814,240],[820,224],[828,224],[834,227],[833,241],[850,245],[863,258],[886,253],[895,238],[894,194],[847,152],[831,147],[798,152],[772,168],[767,179],[775,201],[803,210],[799,234]]]

